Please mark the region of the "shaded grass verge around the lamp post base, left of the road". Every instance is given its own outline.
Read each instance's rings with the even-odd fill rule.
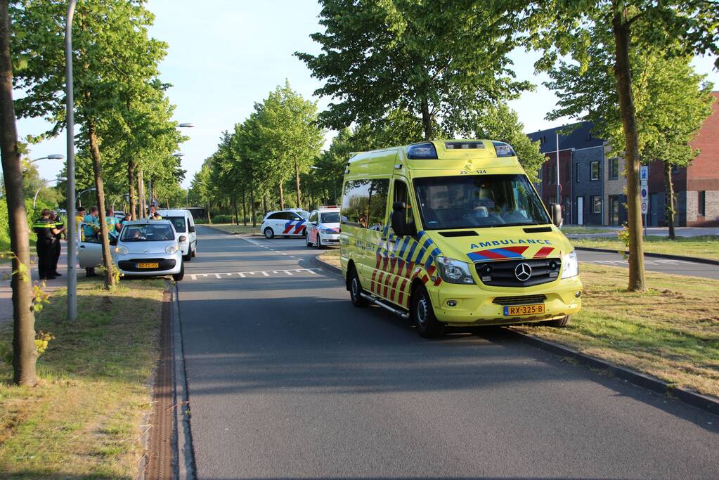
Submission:
[[[55,292],[35,329],[55,339],[37,361],[38,385],[16,387],[0,362],[3,478],[127,478],[142,457],[139,425],[151,410],[165,280],[124,280],[113,292],[78,279],[78,320]],[[4,343],[12,331],[0,332]]]

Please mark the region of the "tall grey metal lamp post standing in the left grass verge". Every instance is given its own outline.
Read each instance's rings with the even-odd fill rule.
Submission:
[[[65,18],[65,108],[68,126],[68,320],[78,318],[78,235],[75,231],[75,101],[73,99],[73,14],[77,0],[68,2]]]

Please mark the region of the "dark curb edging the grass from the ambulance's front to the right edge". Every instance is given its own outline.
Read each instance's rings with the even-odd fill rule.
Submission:
[[[626,380],[638,387],[646,388],[658,394],[674,397],[677,400],[681,400],[684,403],[692,405],[692,407],[697,407],[715,415],[719,415],[719,398],[710,397],[709,395],[701,394],[684,387],[673,387],[671,384],[664,382],[664,380],[651,377],[651,375],[628,369],[625,366],[610,364],[608,361],[582,354],[582,352],[570,349],[568,346],[544,340],[543,338],[529,335],[528,333],[521,333],[510,328],[505,328],[505,331],[509,332],[513,336],[516,336],[518,340],[528,343],[529,345],[536,346],[539,349],[549,351],[555,355],[575,359],[592,369],[609,371],[615,377]]]

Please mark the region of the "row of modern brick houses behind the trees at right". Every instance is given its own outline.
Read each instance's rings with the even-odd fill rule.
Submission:
[[[719,226],[719,92],[713,114],[691,143],[700,154],[689,167],[675,167],[672,183],[677,195],[677,226]],[[592,133],[592,123],[558,126],[528,134],[540,142],[546,157],[538,185],[546,205],[559,200],[564,223],[571,225],[622,225],[627,221],[624,159],[611,152],[607,142]],[[559,139],[559,148],[557,148]],[[559,157],[559,162],[557,161]],[[665,226],[664,168],[649,165],[649,226]]]

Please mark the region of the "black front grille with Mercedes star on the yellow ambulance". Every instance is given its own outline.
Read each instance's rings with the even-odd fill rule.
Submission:
[[[531,268],[531,274],[526,280],[519,280],[515,274],[519,264]],[[554,258],[477,262],[475,268],[482,283],[488,287],[532,287],[557,280],[562,261]]]

